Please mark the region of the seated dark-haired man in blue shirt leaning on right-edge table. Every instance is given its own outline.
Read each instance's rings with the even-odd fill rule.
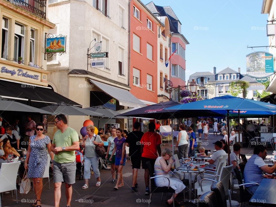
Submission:
[[[273,178],[272,175],[263,175],[264,173],[272,174],[276,170],[276,162],[272,167],[267,166],[264,163],[264,159],[267,156],[267,148],[259,145],[254,148],[254,154],[249,158],[244,168],[244,183],[261,183],[263,178]],[[246,189],[254,194],[258,185],[249,184],[246,185]]]

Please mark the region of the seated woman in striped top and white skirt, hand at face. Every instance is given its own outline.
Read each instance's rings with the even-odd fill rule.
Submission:
[[[166,201],[166,204],[168,206],[170,206],[173,203],[173,199],[176,198],[177,194],[180,193],[181,191],[183,191],[183,189],[185,188],[185,185],[183,184],[183,182],[181,180],[176,179],[176,178],[171,178],[168,173],[170,171],[170,168],[173,163],[173,159],[171,159],[172,155],[173,155],[173,153],[169,149],[163,148],[161,151],[161,156],[156,159],[155,164],[154,164],[155,176],[164,175],[164,176],[168,177],[168,179],[170,180],[170,187],[175,190],[174,198],[172,196],[169,200]],[[168,163],[169,163],[168,165],[167,165],[166,161],[168,161]],[[159,177],[159,178],[155,178],[154,181],[155,181],[156,186],[160,186],[160,187],[166,186],[167,187],[168,179],[166,179],[164,177]],[[175,203],[177,203],[177,202],[175,202]]]

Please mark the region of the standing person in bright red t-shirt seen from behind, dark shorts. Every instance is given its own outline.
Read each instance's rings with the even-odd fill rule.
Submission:
[[[145,195],[150,194],[150,172],[147,168],[147,161],[150,161],[152,168],[154,168],[155,160],[158,158],[157,152],[159,156],[161,156],[161,137],[158,133],[154,132],[155,124],[154,122],[150,122],[149,131],[146,132],[140,143],[141,143],[141,154],[142,154],[142,168],[145,169],[145,185],[146,191]]]

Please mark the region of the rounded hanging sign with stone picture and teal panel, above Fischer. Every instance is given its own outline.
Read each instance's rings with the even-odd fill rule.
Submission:
[[[246,55],[246,74],[252,78],[265,78],[274,74],[273,54],[254,52]]]

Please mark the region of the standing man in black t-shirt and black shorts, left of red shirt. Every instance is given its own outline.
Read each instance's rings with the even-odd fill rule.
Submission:
[[[141,143],[143,132],[140,132],[140,123],[134,122],[134,130],[127,135],[126,143],[129,147],[129,156],[132,164],[132,192],[137,192],[137,175],[141,166]]]

